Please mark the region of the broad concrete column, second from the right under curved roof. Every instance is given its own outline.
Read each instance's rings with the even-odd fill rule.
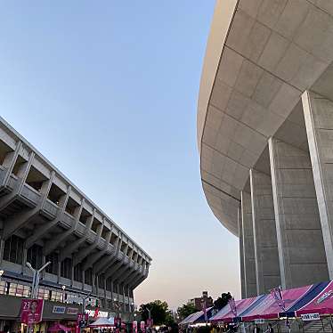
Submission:
[[[282,288],[329,279],[307,151],[269,139]]]

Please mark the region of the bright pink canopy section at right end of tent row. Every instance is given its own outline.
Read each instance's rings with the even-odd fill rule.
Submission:
[[[333,281],[310,302],[296,310],[296,316],[306,313],[333,314]]]

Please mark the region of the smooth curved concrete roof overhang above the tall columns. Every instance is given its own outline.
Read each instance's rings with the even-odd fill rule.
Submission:
[[[199,89],[198,144],[207,202],[233,234],[249,168],[306,89],[332,93],[332,61],[332,1],[216,1]]]

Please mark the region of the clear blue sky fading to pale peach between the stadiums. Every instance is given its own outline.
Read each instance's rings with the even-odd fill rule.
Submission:
[[[238,240],[201,189],[215,0],[7,1],[0,114],[150,253],[136,302],[240,295]]]

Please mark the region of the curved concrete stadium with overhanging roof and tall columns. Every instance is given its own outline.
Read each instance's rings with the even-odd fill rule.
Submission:
[[[242,296],[333,279],[333,4],[217,0],[198,102],[207,203]]]

